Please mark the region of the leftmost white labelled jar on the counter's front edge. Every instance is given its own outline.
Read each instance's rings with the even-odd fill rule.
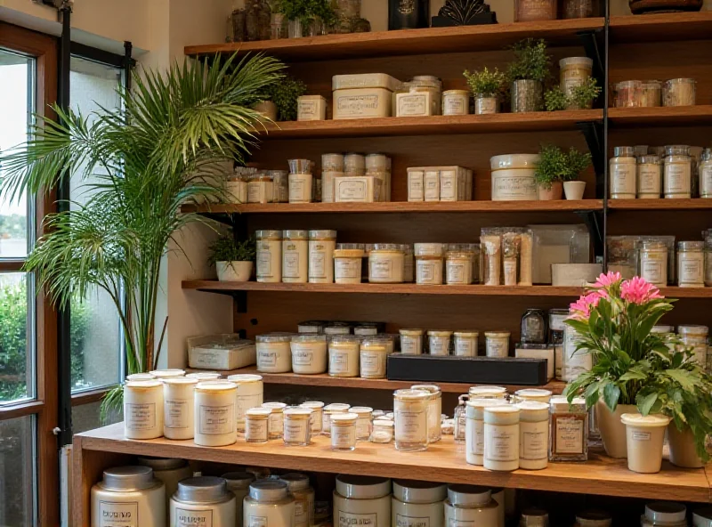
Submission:
[[[124,385],[124,436],[156,439],[163,435],[163,384],[128,381]]]

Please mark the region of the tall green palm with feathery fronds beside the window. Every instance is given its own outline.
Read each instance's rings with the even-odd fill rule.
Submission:
[[[49,191],[62,174],[91,196],[47,218],[24,270],[54,304],[104,290],[121,320],[129,374],[158,363],[158,274],[169,244],[181,251],[176,233],[208,221],[182,206],[223,193],[220,163],[248,153],[263,123],[252,107],[283,68],[258,55],[145,71],[131,93],[119,92],[123,110],[85,117],[55,107],[59,120],[45,118],[28,142],[0,156],[0,200]],[[102,409],[122,394],[120,386],[111,391]]]

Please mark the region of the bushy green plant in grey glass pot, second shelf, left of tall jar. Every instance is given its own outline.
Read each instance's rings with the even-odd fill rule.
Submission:
[[[546,42],[527,38],[513,47],[514,61],[506,72],[510,83],[512,111],[542,109],[544,81],[549,76],[551,57],[546,53]]]

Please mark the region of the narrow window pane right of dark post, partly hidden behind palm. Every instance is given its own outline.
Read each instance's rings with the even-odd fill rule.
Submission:
[[[121,85],[123,70],[78,57],[72,57],[70,68],[72,109],[92,119],[92,112],[101,112],[101,108],[120,108],[117,88]],[[101,167],[94,168],[95,174],[101,172]],[[91,198],[85,185],[96,182],[93,179],[82,180],[78,175],[71,178],[70,195],[76,202],[72,207],[79,207],[78,204],[85,204]],[[72,303],[70,324],[72,391],[116,384],[121,372],[120,326],[116,306],[109,295],[97,288],[84,302]]]

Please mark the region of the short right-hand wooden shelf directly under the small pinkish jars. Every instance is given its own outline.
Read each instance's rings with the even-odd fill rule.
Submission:
[[[611,126],[616,128],[712,126],[712,105],[611,108],[608,110],[608,116]]]

